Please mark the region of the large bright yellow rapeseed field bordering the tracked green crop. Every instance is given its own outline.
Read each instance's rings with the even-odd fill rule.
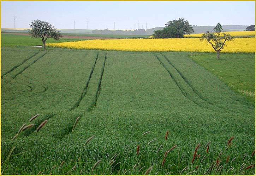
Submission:
[[[255,53],[255,38],[236,38],[226,44],[221,52]],[[86,50],[215,52],[211,45],[201,43],[198,38],[83,40],[49,43],[47,46]]]

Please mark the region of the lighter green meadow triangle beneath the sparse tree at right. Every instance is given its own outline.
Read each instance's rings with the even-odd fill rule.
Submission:
[[[191,58],[255,104],[255,54],[192,53]]]

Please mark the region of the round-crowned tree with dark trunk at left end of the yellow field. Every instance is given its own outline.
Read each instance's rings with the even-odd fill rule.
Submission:
[[[54,40],[62,38],[62,34],[59,30],[54,29],[53,25],[41,20],[31,22],[29,34],[32,38],[41,38],[44,49],[46,49],[45,43],[48,38]]]

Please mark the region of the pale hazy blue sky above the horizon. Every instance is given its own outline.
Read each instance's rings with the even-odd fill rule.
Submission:
[[[1,28],[44,20],[58,29],[138,29],[184,18],[191,25],[255,24],[255,1],[1,1]]]

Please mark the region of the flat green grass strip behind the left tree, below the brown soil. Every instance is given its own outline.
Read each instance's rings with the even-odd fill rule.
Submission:
[[[75,42],[86,39],[78,38],[62,38],[60,40],[53,40],[52,38],[47,39],[46,43],[59,43],[59,42]],[[30,36],[22,36],[16,34],[5,34],[1,33],[1,46],[38,46],[43,45],[40,38],[34,39]]]

